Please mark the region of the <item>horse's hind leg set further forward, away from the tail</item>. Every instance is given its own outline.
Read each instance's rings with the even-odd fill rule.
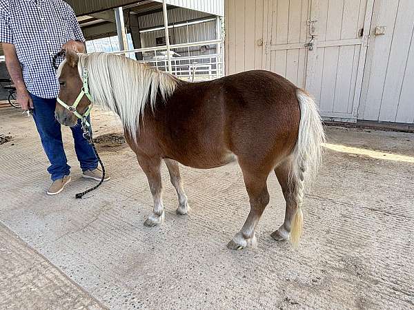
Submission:
[[[256,246],[255,228],[262,216],[264,208],[269,203],[269,192],[266,185],[268,173],[248,172],[243,169],[244,183],[250,198],[250,213],[242,229],[228,242],[229,249],[243,249]]]

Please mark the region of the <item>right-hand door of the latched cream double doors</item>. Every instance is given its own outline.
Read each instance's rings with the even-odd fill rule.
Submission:
[[[307,88],[325,118],[356,121],[372,9],[373,0],[312,0]]]

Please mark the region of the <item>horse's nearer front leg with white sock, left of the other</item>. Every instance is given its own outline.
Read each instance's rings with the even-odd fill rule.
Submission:
[[[162,204],[162,182],[161,182],[161,158],[150,158],[148,156],[137,155],[139,165],[144,170],[148,178],[148,184],[152,198],[154,199],[154,209],[145,221],[144,225],[152,227],[164,222],[165,212]]]

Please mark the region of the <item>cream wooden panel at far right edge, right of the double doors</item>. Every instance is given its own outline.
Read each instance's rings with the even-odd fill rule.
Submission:
[[[414,123],[414,3],[375,1],[358,119]]]

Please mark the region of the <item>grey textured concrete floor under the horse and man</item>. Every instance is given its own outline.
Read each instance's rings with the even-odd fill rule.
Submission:
[[[92,123],[95,136],[120,132],[104,112],[95,112]],[[92,183],[80,177],[70,131],[63,132],[72,183],[50,197],[34,123],[12,108],[0,110],[0,134],[13,136],[0,145],[0,270],[8,275],[0,280],[1,309],[414,307],[414,134],[327,127],[328,143],[352,148],[326,149],[304,201],[299,249],[270,238],[284,215],[271,175],[259,247],[230,251],[226,243],[248,214],[237,165],[183,167],[192,207],[184,217],[175,214],[164,167],[166,221],[147,228],[152,199],[132,151],[101,145],[112,180],[75,200]],[[361,148],[373,152],[359,154]],[[45,270],[55,278],[37,281]],[[59,290],[70,292],[65,302],[53,295]]]

